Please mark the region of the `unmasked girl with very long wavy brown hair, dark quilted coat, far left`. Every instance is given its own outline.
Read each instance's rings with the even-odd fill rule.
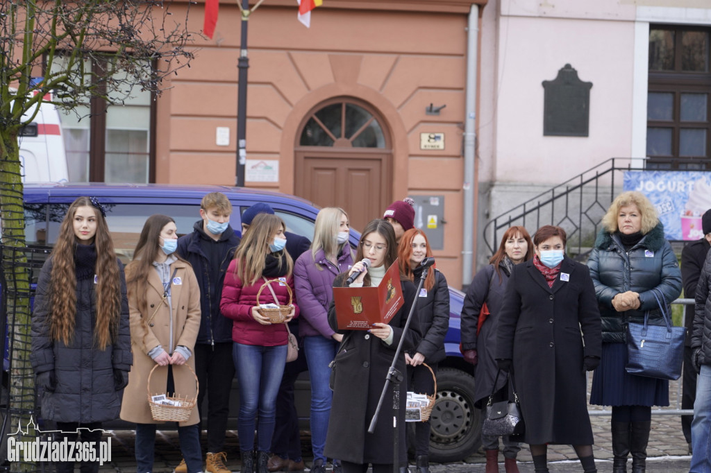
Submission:
[[[42,267],[30,359],[43,419],[70,441],[80,427],[82,441],[100,440],[101,423],[119,415],[132,355],[124,268],[95,197],[72,202]],[[82,472],[98,470],[98,462],[82,462]],[[59,462],[57,471],[73,472],[74,462]]]

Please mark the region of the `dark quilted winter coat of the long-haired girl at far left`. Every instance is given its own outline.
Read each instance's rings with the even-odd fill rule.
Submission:
[[[117,391],[114,386],[114,369],[129,371],[133,364],[124,267],[117,259],[121,273],[118,335],[113,344],[100,350],[94,344],[94,278],[77,281],[77,317],[71,344],[50,339],[52,261],[50,256],[42,266],[32,314],[32,367],[36,374],[54,370],[57,381],[53,392],[43,393],[42,417],[56,422],[78,423],[117,419],[122,391]]]

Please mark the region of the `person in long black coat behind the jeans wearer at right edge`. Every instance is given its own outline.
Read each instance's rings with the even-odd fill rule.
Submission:
[[[704,237],[691,241],[684,246],[681,251],[681,278],[684,283],[684,297],[693,299],[696,297],[696,285],[701,276],[701,268],[704,266],[706,254],[711,248],[711,210],[707,210],[701,219],[701,227]],[[684,317],[686,326],[686,343],[684,347],[684,381],[683,394],[681,397],[681,408],[692,409],[696,398],[696,370],[693,366],[691,355],[691,333],[694,327],[694,306],[687,305]],[[681,416],[681,429],[684,432],[686,442],[691,445],[691,420],[693,415]]]

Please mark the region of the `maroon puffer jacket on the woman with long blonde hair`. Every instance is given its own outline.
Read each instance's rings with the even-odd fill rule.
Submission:
[[[245,345],[261,345],[262,347],[275,347],[287,344],[287,327],[284,324],[262,325],[252,318],[252,307],[257,305],[257,293],[259,292],[264,279],[260,278],[257,283],[245,286],[242,280],[235,274],[237,261],[232,260],[225,274],[223,285],[223,295],[220,301],[220,310],[223,315],[232,319],[232,341]],[[268,278],[273,279],[273,278]],[[272,283],[272,289],[277,295],[277,304],[284,305],[289,302],[289,292],[287,285],[294,294],[294,278],[289,276],[286,284]],[[274,303],[269,288],[264,288],[260,295],[260,303]],[[296,298],[292,300],[294,304],[294,317],[299,316],[299,306],[296,305]]]

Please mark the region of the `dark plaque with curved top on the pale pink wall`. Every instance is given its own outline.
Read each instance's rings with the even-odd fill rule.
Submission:
[[[544,80],[543,136],[588,136],[591,88],[570,64],[555,80]]]

